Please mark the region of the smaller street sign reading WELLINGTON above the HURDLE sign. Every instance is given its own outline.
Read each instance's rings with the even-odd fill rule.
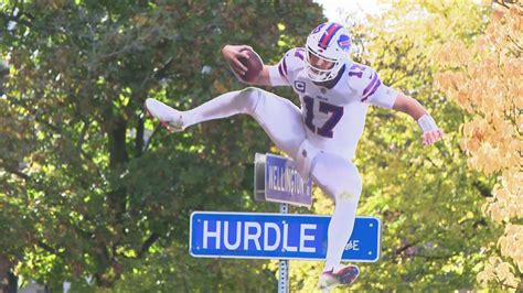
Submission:
[[[291,159],[256,154],[255,198],[297,206],[312,205],[312,181],[303,181]]]

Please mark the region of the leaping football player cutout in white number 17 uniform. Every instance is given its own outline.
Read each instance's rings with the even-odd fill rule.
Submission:
[[[303,178],[311,177],[335,203],[328,230],[327,259],[319,287],[329,290],[352,283],[356,265],[342,265],[362,193],[362,180],[352,162],[370,105],[412,116],[429,145],[444,135],[415,99],[382,84],[376,72],[350,59],[351,37],[338,23],[318,25],[306,47],[292,48],[278,65],[264,65],[250,85],[290,86],[301,107],[255,87],[223,94],[194,109],[180,111],[147,99],[147,111],[171,131],[238,113],[252,116],[273,142],[297,163]],[[241,82],[247,68],[246,45],[226,45],[222,53]],[[245,83],[245,82],[244,82]]]

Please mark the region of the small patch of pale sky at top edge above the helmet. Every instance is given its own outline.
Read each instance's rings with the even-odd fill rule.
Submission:
[[[345,15],[348,12],[380,13],[377,0],[314,0],[314,2],[323,7],[323,13],[329,21],[343,22],[342,15]]]

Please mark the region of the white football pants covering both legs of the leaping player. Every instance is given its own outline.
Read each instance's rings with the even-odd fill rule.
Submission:
[[[307,139],[301,113],[291,101],[259,88],[248,87],[221,95],[192,110],[182,112],[184,127],[233,115],[252,116],[273,142],[296,160],[298,149]],[[310,175],[335,202],[329,225],[327,260],[323,271],[337,270],[352,234],[362,181],[349,160],[325,152],[312,161]]]

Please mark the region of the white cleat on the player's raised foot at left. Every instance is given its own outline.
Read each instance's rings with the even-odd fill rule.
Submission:
[[[183,131],[183,115],[181,111],[173,109],[166,104],[156,100],[147,99],[143,107],[149,116],[160,120],[160,123],[172,132]]]

